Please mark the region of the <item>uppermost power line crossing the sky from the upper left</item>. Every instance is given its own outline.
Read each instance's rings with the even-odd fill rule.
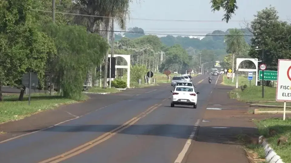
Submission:
[[[33,11],[41,11],[41,12],[52,12],[47,10],[38,10],[38,9],[31,9]],[[88,16],[88,17],[97,17],[97,18],[119,18],[119,17],[109,17],[109,16],[99,16],[99,15],[86,15],[86,14],[74,14],[68,12],[57,12],[58,14],[67,14],[67,15],[76,15],[76,16]],[[144,18],[130,18],[133,20],[144,20],[144,21],[180,21],[180,22],[224,22],[221,20],[172,20],[172,19],[144,19]],[[288,20],[288,19],[282,19]],[[241,21],[253,21],[253,20],[229,20],[229,22],[241,22]]]

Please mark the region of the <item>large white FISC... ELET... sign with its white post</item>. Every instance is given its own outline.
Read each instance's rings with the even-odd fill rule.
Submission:
[[[278,60],[276,101],[284,101],[283,120],[286,117],[286,101],[291,101],[291,60]]]

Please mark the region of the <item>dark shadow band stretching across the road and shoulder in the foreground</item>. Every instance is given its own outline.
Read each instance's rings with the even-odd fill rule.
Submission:
[[[120,125],[80,125],[80,126],[55,126],[41,132],[96,132],[100,135],[110,132]],[[173,124],[153,124],[153,125],[132,125],[129,128],[122,130],[118,134],[128,134],[135,136],[164,136],[178,139],[188,139],[194,126],[190,125],[173,125]],[[36,130],[27,130],[24,132],[33,132]],[[199,127],[198,142],[210,142],[220,144],[236,144],[239,134],[247,134],[254,136],[257,133],[256,128],[249,127],[228,127],[228,126],[207,126]],[[99,135],[98,134],[98,135]],[[97,136],[96,136],[97,137]]]

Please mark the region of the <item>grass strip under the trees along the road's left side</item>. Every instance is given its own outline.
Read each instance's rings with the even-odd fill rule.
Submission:
[[[44,93],[31,94],[30,105],[28,105],[28,96],[23,97],[23,101],[18,101],[19,94],[4,94],[3,101],[0,102],[0,124],[8,121],[23,119],[34,113],[44,110],[50,110],[61,104],[72,104],[78,101],[66,99],[60,96],[49,96]],[[88,98],[82,95],[80,101]]]

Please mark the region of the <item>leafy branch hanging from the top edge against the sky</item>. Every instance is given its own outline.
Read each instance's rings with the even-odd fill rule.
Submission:
[[[220,9],[223,9],[225,11],[225,14],[223,15],[222,21],[225,20],[226,23],[230,20],[232,17],[232,14],[238,9],[238,6],[236,5],[236,0],[211,0],[210,3],[212,11],[219,11]]]

